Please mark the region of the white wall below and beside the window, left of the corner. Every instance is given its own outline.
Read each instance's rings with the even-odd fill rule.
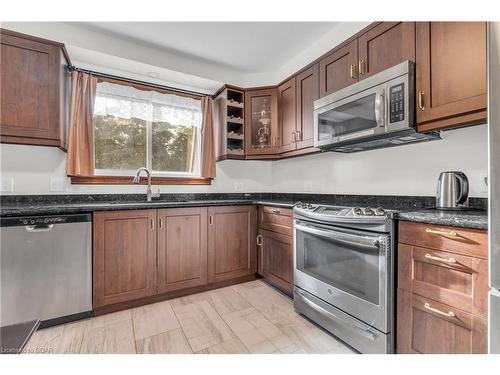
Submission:
[[[84,194],[144,193],[138,185],[71,185],[66,179],[66,153],[55,147],[2,144],[1,177],[13,179],[13,192],[2,194]],[[166,192],[236,192],[243,184],[244,192],[271,191],[272,165],[266,161],[226,160],[217,163],[217,178],[210,186],[159,186]],[[51,178],[68,181],[65,191],[51,191]],[[154,191],[157,187],[155,186]]]

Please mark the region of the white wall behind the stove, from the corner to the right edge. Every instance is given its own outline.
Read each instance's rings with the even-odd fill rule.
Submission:
[[[463,171],[470,196],[487,197],[486,125],[443,132],[443,140],[354,154],[327,152],[273,162],[274,192],[435,195],[440,172]]]

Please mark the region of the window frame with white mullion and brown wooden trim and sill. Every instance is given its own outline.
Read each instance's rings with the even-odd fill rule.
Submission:
[[[126,81],[118,81],[116,79],[108,79],[100,77],[98,83],[109,82],[113,84],[119,84],[124,86],[134,87],[143,91],[157,91],[162,94],[178,95],[189,97],[191,99],[200,100],[201,98],[194,95],[176,93],[170,90],[159,89],[157,87],[140,85],[137,83],[131,83]],[[104,94],[107,95],[107,94]],[[113,95],[115,96],[115,95]],[[129,97],[125,97],[130,99]],[[140,100],[140,99],[138,99]],[[193,172],[167,172],[167,171],[155,171],[152,169],[153,166],[153,121],[152,121],[152,111],[155,102],[145,101],[148,103],[148,118],[146,120],[146,167],[151,167],[151,180],[152,184],[156,185],[210,185],[211,178],[201,177],[201,164],[202,164],[202,125],[195,128],[195,153],[198,157],[194,160],[194,171]],[[164,105],[162,103],[156,103],[158,105]],[[94,131],[94,129],[93,129]],[[95,139],[95,138],[94,138]],[[93,159],[94,159],[94,175],[93,176],[72,176],[72,184],[132,184],[132,179],[135,176],[136,170],[118,170],[118,169],[97,169],[95,168],[95,147],[93,147]],[[141,184],[146,183],[145,179],[141,179]]]

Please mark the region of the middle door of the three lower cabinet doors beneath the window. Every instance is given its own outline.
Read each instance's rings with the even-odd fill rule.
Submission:
[[[158,210],[158,292],[207,284],[207,208]]]

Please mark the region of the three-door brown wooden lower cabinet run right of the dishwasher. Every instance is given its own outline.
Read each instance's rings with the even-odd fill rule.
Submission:
[[[255,206],[96,212],[93,228],[97,315],[256,277]]]

